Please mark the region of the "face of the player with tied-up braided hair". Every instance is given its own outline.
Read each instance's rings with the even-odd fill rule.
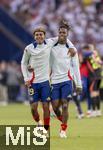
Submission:
[[[60,28],[60,29],[59,29],[59,35],[58,35],[59,42],[64,42],[64,41],[66,41],[67,36],[68,36],[68,30],[65,29],[65,28]]]

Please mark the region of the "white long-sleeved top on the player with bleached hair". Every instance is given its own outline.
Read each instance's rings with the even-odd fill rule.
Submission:
[[[25,81],[33,78],[33,73],[28,71],[28,66],[34,69],[35,79],[33,83],[49,80],[49,58],[53,44],[54,40],[48,39],[43,44],[34,42],[25,48],[21,61],[21,69]]]

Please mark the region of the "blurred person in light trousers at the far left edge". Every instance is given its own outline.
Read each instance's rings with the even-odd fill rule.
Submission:
[[[7,65],[4,61],[0,63],[0,104],[6,105],[8,101],[7,94]]]

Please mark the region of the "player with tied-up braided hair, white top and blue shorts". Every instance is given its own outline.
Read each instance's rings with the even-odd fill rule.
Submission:
[[[66,138],[68,102],[72,97],[71,67],[76,77],[76,91],[82,91],[77,50],[68,39],[70,26],[60,22],[58,41],[51,50],[51,101],[57,118],[61,121],[60,137]],[[72,64],[72,65],[71,65]],[[60,110],[62,107],[62,111]]]

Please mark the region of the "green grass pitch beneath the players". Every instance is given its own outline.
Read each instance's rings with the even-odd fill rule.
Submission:
[[[84,112],[86,104],[82,103]],[[40,113],[41,107],[39,108]],[[102,104],[103,110],[103,104]],[[103,116],[96,118],[76,119],[73,103],[69,105],[67,139],[59,137],[60,122],[51,118],[50,150],[103,150]],[[30,107],[23,104],[0,106],[0,125],[33,125]]]

